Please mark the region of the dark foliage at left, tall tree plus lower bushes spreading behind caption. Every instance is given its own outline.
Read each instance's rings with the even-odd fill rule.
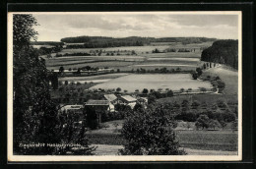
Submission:
[[[38,50],[30,45],[36,39],[37,32],[32,28],[37,25],[32,15],[13,16],[13,58],[14,58],[14,153],[23,155],[65,154],[66,147],[41,146],[24,147],[20,143],[76,143],[81,148],[71,148],[72,154],[92,154],[94,148],[88,146],[84,137],[85,128],[75,132],[72,118],[58,114],[60,107],[51,100],[49,81],[56,89],[57,76],[48,73],[45,61],[38,57]],[[73,116],[72,116],[73,117]]]

